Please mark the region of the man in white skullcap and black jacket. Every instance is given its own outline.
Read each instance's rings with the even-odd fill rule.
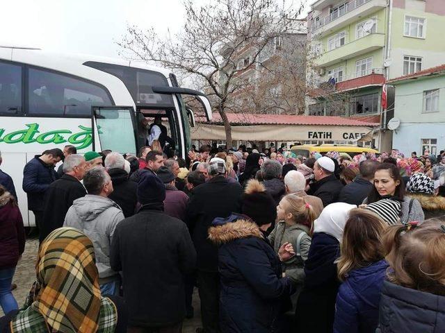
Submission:
[[[316,182],[310,185],[307,194],[321,198],[323,207],[331,203],[337,203],[340,191],[343,188],[343,184],[335,177],[334,171],[334,161],[327,156],[320,157],[314,164],[314,178]]]

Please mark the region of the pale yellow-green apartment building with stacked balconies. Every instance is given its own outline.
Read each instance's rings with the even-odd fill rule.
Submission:
[[[318,0],[307,21],[307,114],[378,121],[369,144],[390,149],[394,89],[387,89],[383,110],[382,87],[443,63],[444,0]]]

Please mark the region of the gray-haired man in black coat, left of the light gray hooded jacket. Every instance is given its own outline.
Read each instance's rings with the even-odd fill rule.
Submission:
[[[86,162],[81,155],[72,154],[65,157],[63,176],[49,185],[44,196],[40,242],[53,230],[63,226],[65,215],[74,200],[86,195],[81,180],[85,175]]]

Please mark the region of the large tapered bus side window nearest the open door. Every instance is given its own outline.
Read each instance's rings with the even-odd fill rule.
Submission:
[[[105,89],[40,69],[29,69],[29,114],[90,116],[91,106],[111,106]]]

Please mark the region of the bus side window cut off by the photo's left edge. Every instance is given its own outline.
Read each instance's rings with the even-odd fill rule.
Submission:
[[[0,113],[22,112],[22,67],[0,62]]]

